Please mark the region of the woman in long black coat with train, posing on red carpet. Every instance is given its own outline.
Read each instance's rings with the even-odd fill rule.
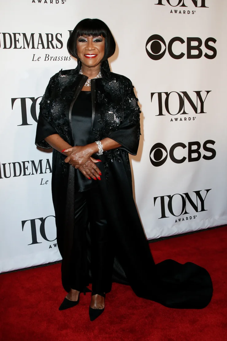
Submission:
[[[150,253],[128,157],[139,145],[140,108],[131,81],[110,71],[110,29],[99,19],[84,19],[67,47],[78,66],[51,77],[35,141],[53,147],[52,197],[68,292],[59,309],[79,303],[79,293],[92,283],[93,321],[104,310],[112,281],[166,307],[206,307],[212,282],[205,269],[172,260],[155,265]]]

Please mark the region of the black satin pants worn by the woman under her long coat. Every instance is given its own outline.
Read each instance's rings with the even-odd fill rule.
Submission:
[[[90,223],[91,276],[94,292],[109,292],[114,255],[98,187],[75,193],[74,244],[70,262],[70,286],[82,291],[88,279],[87,226]]]

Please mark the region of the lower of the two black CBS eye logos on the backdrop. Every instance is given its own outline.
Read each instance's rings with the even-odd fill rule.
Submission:
[[[213,140],[206,140],[204,144],[202,145],[202,148],[204,151],[211,153],[210,155],[204,154],[202,158],[204,160],[212,160],[216,156],[215,149],[208,147],[208,145],[214,145],[215,141]],[[187,146],[184,143],[178,142],[175,143],[170,149],[169,149],[169,158],[175,162],[175,163],[183,163],[187,158],[183,156],[181,159],[177,159],[174,155],[174,151],[176,148],[187,148]],[[201,159],[201,152],[200,152],[201,144],[198,141],[189,142],[188,143],[188,162],[193,161],[199,161]],[[192,155],[196,154],[195,157]],[[168,151],[167,148],[162,143],[156,143],[153,145],[153,147],[150,150],[150,162],[153,166],[159,167],[162,166],[168,157]]]

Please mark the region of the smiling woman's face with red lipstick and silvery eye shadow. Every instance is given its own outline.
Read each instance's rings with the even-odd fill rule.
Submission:
[[[79,36],[77,39],[77,55],[81,62],[93,67],[98,65],[104,57],[105,38],[103,36]]]

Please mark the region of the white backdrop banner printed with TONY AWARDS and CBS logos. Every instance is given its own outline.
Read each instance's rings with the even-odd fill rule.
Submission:
[[[139,98],[131,163],[147,238],[227,223],[225,0],[8,0],[0,8],[1,272],[61,259],[52,153],[34,139],[50,77],[77,65],[66,44],[86,17],[110,27],[111,69]]]

